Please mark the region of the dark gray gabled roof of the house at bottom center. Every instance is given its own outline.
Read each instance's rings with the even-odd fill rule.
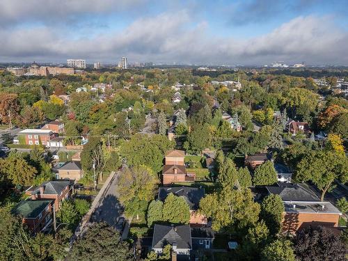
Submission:
[[[167,244],[173,246],[173,243],[177,245],[177,248],[191,249],[192,242],[190,226],[166,226],[155,224],[152,248],[164,248]]]

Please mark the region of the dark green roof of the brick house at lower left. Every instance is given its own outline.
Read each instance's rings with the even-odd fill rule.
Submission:
[[[13,208],[13,214],[26,219],[35,219],[52,200],[23,200]]]

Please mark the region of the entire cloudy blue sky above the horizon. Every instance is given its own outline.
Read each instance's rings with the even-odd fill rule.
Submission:
[[[348,65],[348,0],[1,0],[1,62]]]

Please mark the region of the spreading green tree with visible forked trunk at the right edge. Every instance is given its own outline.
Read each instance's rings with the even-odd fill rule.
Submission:
[[[293,179],[296,182],[311,180],[322,191],[320,200],[324,201],[325,193],[332,188],[334,180],[347,182],[347,157],[331,151],[309,152],[297,164]]]

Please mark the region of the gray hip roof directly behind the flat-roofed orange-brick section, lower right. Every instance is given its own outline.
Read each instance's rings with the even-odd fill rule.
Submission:
[[[266,187],[269,193],[277,194],[283,201],[318,202],[319,198],[300,184],[283,184],[283,187]]]

